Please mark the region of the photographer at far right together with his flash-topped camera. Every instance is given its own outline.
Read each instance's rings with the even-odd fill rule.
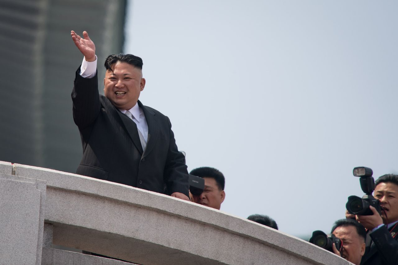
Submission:
[[[373,181],[372,170],[363,169],[366,169],[367,173],[356,175],[354,169],[354,175],[361,177],[361,188],[367,195],[362,198],[361,205],[356,198],[350,199],[355,196],[350,196],[347,202],[348,212],[356,214],[357,221],[368,230],[365,255],[362,257],[361,265],[397,265],[398,175],[386,174],[379,177],[373,184],[375,187],[373,198],[371,195],[373,187],[369,184]]]

